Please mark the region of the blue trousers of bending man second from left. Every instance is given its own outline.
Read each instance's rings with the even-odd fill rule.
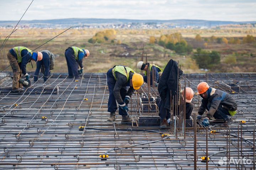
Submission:
[[[42,53],[43,59],[41,61],[37,61],[37,68],[34,72],[34,81],[38,80],[39,71],[42,65],[44,65],[45,71],[44,71],[44,81],[47,81],[49,77],[50,72],[50,56],[47,53]]]

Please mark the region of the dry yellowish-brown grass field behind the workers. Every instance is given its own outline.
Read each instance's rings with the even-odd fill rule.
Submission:
[[[11,33],[11,29],[0,28],[1,39]],[[18,29],[11,35],[4,46],[4,50],[0,53],[0,68],[3,70],[9,65],[7,60],[7,52],[14,46],[26,46],[31,50],[36,49],[41,44],[55,37],[64,30],[60,29]],[[43,45],[37,50],[47,49],[52,53],[57,54],[55,67],[53,72],[67,72],[66,60],[64,56],[65,49],[69,46],[78,46],[90,51],[90,57],[84,60],[84,72],[106,72],[114,65],[127,65],[136,70],[137,62],[140,61],[140,56],[147,55],[148,61],[164,67],[170,59],[178,60],[184,72],[204,72],[198,68],[198,65],[191,59],[191,55],[177,55],[174,51],[165,49],[158,44],[149,44],[151,35],[160,37],[161,34],[170,34],[180,32],[188,43],[193,42],[196,34],[201,37],[245,37],[247,34],[256,35],[256,29],[253,28],[230,28],[220,30],[196,30],[196,29],[166,29],[166,30],[116,30],[116,39],[120,40],[121,44],[111,43],[88,43],[88,39],[92,38],[99,29],[70,29],[67,32],[59,35],[49,43]],[[207,47],[203,46],[204,42],[194,45],[194,50],[197,46],[202,46],[206,50],[217,50],[222,54],[220,68],[218,72],[252,72],[255,71],[254,65],[256,57],[249,54],[256,54],[256,44],[217,44],[208,43]],[[193,45],[193,44],[192,44]],[[144,48],[143,48],[144,46]],[[143,52],[144,51],[144,52]],[[167,54],[162,54],[167,53]],[[236,54],[236,62],[226,62],[226,56]],[[35,62],[33,62],[36,67]],[[30,64],[27,65],[29,71],[35,70]],[[10,70],[10,68],[6,69]],[[139,71],[139,70],[137,70]]]

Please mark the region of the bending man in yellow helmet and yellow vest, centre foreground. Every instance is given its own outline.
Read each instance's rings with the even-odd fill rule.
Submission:
[[[122,116],[121,123],[131,124],[132,121],[129,118],[127,104],[134,90],[138,90],[140,86],[142,86],[142,75],[135,73],[132,68],[117,65],[108,70],[107,84],[110,92],[108,98],[108,112],[110,112],[110,117],[107,121],[113,122],[115,120],[117,101],[119,105],[119,115]],[[126,90],[127,86],[129,86],[128,91]]]

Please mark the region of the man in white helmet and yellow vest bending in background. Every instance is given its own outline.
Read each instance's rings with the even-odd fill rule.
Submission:
[[[150,70],[150,86],[152,86],[152,72],[154,71],[154,78],[155,78],[155,86],[158,86],[158,83],[159,83],[159,79],[160,79],[160,74],[162,73],[162,69],[155,65],[155,64],[149,64],[149,63],[146,63],[144,64],[143,61],[139,61],[138,64],[137,64],[137,68],[140,69],[140,70],[145,70],[145,76],[143,76],[143,79],[144,81],[147,83],[147,71],[148,71],[148,68]]]

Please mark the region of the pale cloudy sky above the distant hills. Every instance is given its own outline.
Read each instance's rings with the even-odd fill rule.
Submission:
[[[0,20],[19,20],[32,0],[0,0]],[[256,0],[34,0],[22,20],[119,18],[256,21]]]

